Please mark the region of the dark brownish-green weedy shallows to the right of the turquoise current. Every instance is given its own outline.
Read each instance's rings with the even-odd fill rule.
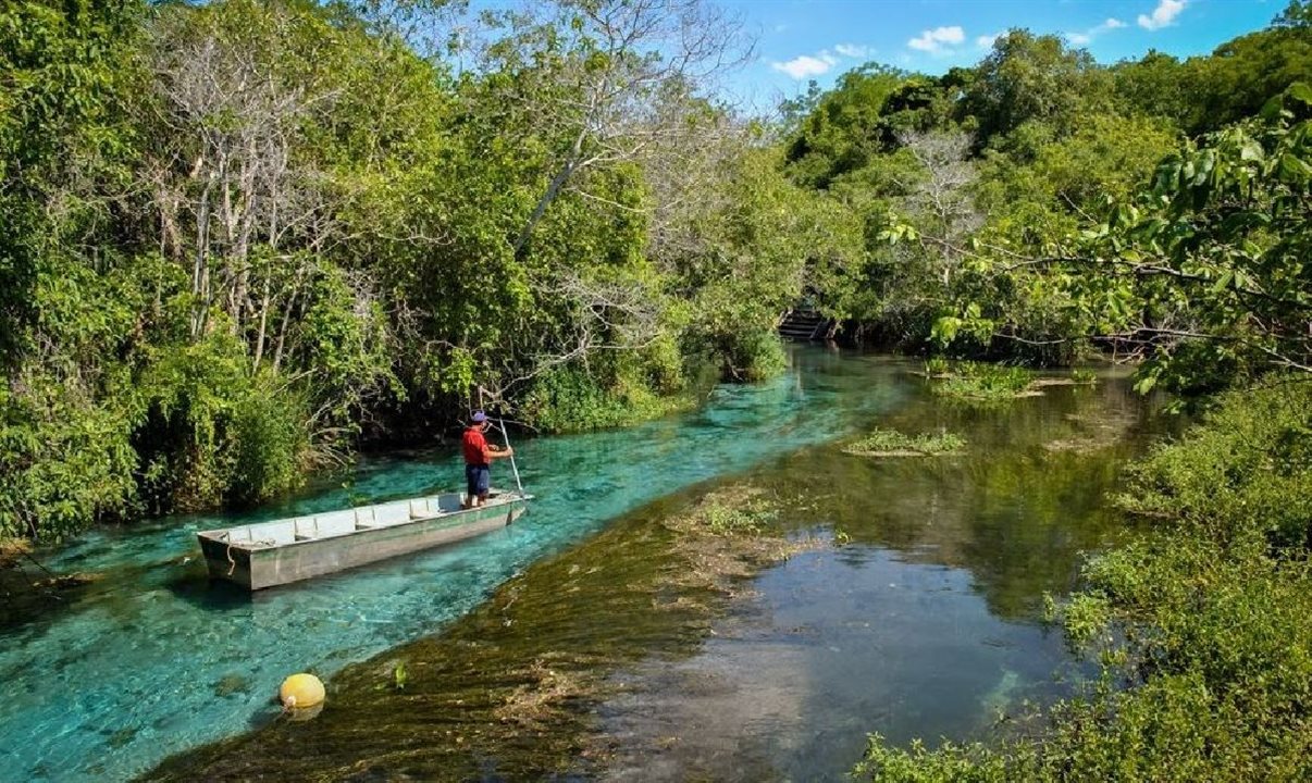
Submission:
[[[827,378],[887,367],[834,362]],[[706,417],[732,432],[718,417],[732,407]],[[970,446],[871,459],[825,442],[651,502],[442,632],[345,668],[312,723],[151,779],[834,779],[867,732],[979,737],[1069,693],[1085,669],[1039,622],[1042,595],[1122,535],[1105,497],[1164,424],[1113,379],[989,409],[921,393],[872,425]],[[785,532],[842,546],[728,598],[674,586],[694,563],[660,522],[737,484],[769,493]]]

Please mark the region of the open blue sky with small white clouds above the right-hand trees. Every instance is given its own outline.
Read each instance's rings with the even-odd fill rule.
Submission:
[[[984,56],[1009,28],[1057,33],[1101,63],[1151,49],[1206,54],[1265,28],[1287,0],[719,0],[757,37],[754,59],[726,88],[773,104],[829,87],[866,62],[942,73]]]

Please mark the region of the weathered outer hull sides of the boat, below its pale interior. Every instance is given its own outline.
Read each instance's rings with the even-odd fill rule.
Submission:
[[[234,540],[231,531],[206,531],[197,538],[211,577],[262,590],[491,532],[518,519],[529,497],[514,497],[378,527],[357,526],[327,538],[295,536],[297,540],[272,546]],[[277,522],[265,526],[272,525]]]

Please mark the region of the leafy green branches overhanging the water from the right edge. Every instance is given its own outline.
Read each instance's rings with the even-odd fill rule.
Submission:
[[[981,270],[1017,290],[1050,291],[1068,334],[1141,351],[1140,390],[1165,382],[1206,391],[1269,370],[1312,370],[1309,102],[1312,92],[1295,85],[1266,119],[1168,157],[1151,188],[1078,237],[1038,257],[987,248]],[[991,319],[977,300],[966,311],[950,331],[1018,325],[1015,311]]]

